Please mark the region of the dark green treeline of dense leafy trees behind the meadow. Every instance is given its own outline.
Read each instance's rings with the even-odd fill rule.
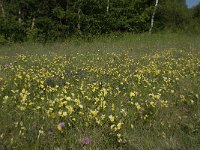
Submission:
[[[73,35],[148,32],[155,0],[0,0],[0,41],[54,41]],[[199,23],[200,5],[160,0],[153,31]]]

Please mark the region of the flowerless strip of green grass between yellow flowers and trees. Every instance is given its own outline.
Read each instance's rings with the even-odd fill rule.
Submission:
[[[151,53],[169,48],[183,50],[199,50],[200,36],[176,33],[159,34],[113,34],[97,37],[90,40],[68,39],[62,43],[22,43],[1,46],[1,55],[14,55],[16,53],[47,54],[56,52],[59,54],[89,52],[124,52],[128,51],[132,56]]]

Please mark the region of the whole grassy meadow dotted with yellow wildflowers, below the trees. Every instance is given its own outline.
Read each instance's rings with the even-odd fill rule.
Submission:
[[[200,37],[0,47],[0,149],[198,150]]]

